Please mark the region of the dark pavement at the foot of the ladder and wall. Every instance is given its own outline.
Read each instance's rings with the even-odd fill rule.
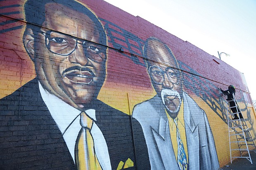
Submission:
[[[248,154],[247,154],[248,155]],[[250,151],[251,162],[246,158],[237,158],[218,170],[256,170],[256,149]]]

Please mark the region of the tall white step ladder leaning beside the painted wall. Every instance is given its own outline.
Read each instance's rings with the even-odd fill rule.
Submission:
[[[241,112],[239,105],[237,103],[237,99],[235,98],[235,95],[233,95],[233,99],[226,100],[227,103],[227,121],[228,121],[228,135],[229,135],[229,148],[230,148],[230,161],[232,161],[236,158],[246,158],[248,159],[251,164],[251,155],[248,146],[253,146],[254,149],[256,148],[256,145],[254,143],[253,138],[251,137],[251,133],[249,131],[249,128],[245,122],[244,116],[240,117],[239,112]],[[230,106],[230,102],[235,102],[235,106]],[[231,108],[236,109],[236,113],[233,113]],[[232,117],[237,114],[239,119],[233,119]],[[241,112],[242,115],[242,112]],[[238,148],[234,149],[231,147],[232,144],[237,144]],[[234,145],[232,145],[234,146]],[[234,156],[235,152],[239,151],[240,156]]]

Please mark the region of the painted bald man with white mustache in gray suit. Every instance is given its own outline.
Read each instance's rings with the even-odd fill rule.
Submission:
[[[185,92],[170,48],[150,37],[143,49],[156,96],[137,104],[152,170],[216,170],[218,156],[206,113]]]

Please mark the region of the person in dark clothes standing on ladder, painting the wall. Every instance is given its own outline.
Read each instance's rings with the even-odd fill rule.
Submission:
[[[220,88],[219,88],[220,89]],[[235,106],[235,99],[234,99],[234,97],[233,97],[233,94],[234,94],[234,96],[235,96],[235,86],[233,86],[233,85],[229,85],[228,86],[228,90],[222,90],[222,89],[220,89],[220,91],[221,92],[223,92],[223,94],[225,94],[226,96],[228,96],[228,98],[227,98],[227,101],[229,102],[229,104],[230,104],[230,107],[234,107]],[[232,110],[232,112],[233,113],[239,113],[239,117],[240,117],[240,119],[242,119],[243,118],[243,115],[242,115],[242,113],[241,113],[241,110],[239,109],[239,107],[235,107],[235,108],[231,108],[231,110]],[[234,118],[233,118],[233,120],[234,119],[239,119],[239,117],[237,116],[237,114],[234,114]]]

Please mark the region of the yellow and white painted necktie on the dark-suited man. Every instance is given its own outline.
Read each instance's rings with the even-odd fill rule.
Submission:
[[[84,112],[80,115],[82,126],[75,145],[75,160],[78,170],[102,170],[94,150],[94,142],[90,132],[93,120]]]

